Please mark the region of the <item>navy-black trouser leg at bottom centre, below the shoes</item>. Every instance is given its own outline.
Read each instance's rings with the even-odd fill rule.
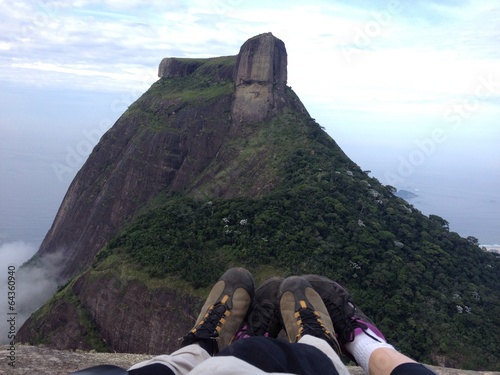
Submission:
[[[216,356],[234,356],[265,372],[338,375],[333,362],[321,350],[269,337],[240,339]]]

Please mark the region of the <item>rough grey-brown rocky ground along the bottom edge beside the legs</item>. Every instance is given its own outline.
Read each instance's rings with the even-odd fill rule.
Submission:
[[[10,351],[0,346],[0,374],[9,375],[67,375],[86,367],[111,364],[128,368],[134,363],[151,358],[147,354],[92,353],[83,351],[55,350],[44,347],[20,345],[15,351],[15,367],[8,365]],[[467,371],[430,366],[439,375],[500,375],[492,371]],[[359,367],[349,367],[352,375],[362,375]]]

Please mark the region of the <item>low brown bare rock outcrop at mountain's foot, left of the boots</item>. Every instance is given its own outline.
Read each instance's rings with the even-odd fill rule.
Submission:
[[[44,306],[44,319],[29,320],[18,339],[57,349],[168,353],[199,307],[199,298],[172,287],[89,271]]]

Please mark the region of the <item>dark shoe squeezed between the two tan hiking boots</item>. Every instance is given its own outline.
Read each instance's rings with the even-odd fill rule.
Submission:
[[[255,290],[252,310],[236,335],[237,339],[250,336],[278,337],[281,323],[279,288],[284,279],[272,277]]]

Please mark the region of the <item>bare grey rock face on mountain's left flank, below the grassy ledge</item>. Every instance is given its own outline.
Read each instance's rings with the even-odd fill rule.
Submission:
[[[183,108],[181,100],[158,103],[145,95],[104,135],[71,184],[39,250],[63,252],[61,278],[88,267],[117,229],[160,191],[179,191],[192,183],[190,176],[201,173],[223,144],[231,98],[229,92]],[[146,116],[163,126],[145,123]]]

